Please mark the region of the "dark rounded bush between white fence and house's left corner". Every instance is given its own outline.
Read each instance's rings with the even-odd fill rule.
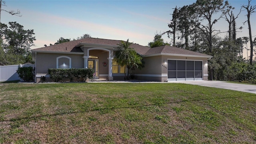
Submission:
[[[25,82],[29,82],[34,80],[34,68],[29,67],[19,67],[17,70],[19,77],[24,80]]]

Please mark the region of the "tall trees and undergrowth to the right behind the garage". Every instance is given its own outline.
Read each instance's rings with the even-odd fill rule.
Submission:
[[[227,72],[238,72],[238,70],[231,70],[235,68],[234,66],[238,66],[238,68],[246,67],[248,69],[241,71],[247,74],[255,74],[256,60],[253,60],[253,54],[255,54],[253,47],[256,46],[256,38],[252,41],[251,31],[254,27],[250,26],[250,15],[255,12],[256,5],[252,6],[251,1],[248,0],[247,4],[240,7],[240,12],[247,12],[247,20],[243,24],[248,24],[248,36],[236,38],[236,33],[242,30],[242,26],[237,27],[236,24],[240,12],[235,14],[234,7],[228,1],[224,2],[223,0],[197,0],[195,3],[181,8],[175,7],[170,24],[168,24],[170,30],[162,34],[168,34],[172,46],[213,56],[208,60],[210,80],[231,80],[232,76]],[[228,36],[224,38],[220,37],[220,34],[224,32],[214,28],[220,19],[224,19],[228,23],[225,31]],[[162,36],[162,34],[158,35]],[[159,37],[158,35],[155,38]],[[243,51],[247,42],[250,42],[250,49],[246,47],[247,50],[250,50],[249,60],[243,58]],[[148,45],[152,47],[151,43]],[[251,66],[244,66],[244,64]],[[234,75],[238,76],[235,73]],[[240,80],[234,77],[232,79]],[[256,77],[250,77],[246,80],[252,79],[256,79]]]

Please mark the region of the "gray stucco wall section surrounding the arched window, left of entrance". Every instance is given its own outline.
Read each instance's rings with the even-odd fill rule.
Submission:
[[[48,74],[48,68],[56,68],[56,58],[59,56],[68,56],[71,58],[71,68],[83,68],[84,60],[81,54],[50,54],[40,53],[36,54],[36,74]],[[67,58],[60,58],[59,62],[68,64]]]

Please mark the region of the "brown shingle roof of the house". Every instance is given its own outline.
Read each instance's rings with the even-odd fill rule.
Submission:
[[[87,44],[103,44],[103,45],[117,45],[122,40],[108,40],[108,39],[101,39],[101,38],[83,38],[80,40],[73,40],[70,42],[64,42],[61,44],[54,44],[52,46],[46,46],[42,48],[36,48],[32,51],[45,51],[45,52],[83,52],[81,48],[76,47],[76,45],[80,43],[87,43]],[[177,48],[174,46],[158,46],[155,48],[150,48],[148,46],[142,46],[139,44],[131,44],[131,47],[138,52],[138,54],[142,56],[153,56],[153,55],[170,55],[170,54],[176,54],[176,55],[190,55],[190,56],[199,56],[199,57],[208,57],[211,58],[212,56],[207,54],[202,54],[199,52],[193,52],[191,50],[185,50],[182,48]]]

